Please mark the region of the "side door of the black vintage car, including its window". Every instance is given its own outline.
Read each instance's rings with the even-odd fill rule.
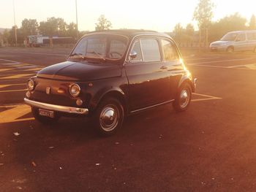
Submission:
[[[140,37],[135,40],[129,53],[137,53],[124,66],[129,81],[130,110],[140,110],[169,101],[169,74],[162,66],[159,39]]]

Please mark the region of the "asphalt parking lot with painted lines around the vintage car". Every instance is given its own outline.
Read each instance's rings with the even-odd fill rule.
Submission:
[[[256,55],[184,50],[189,110],[148,110],[102,138],[81,118],[42,126],[23,103],[26,80],[69,51],[0,48],[1,191],[255,191]]]

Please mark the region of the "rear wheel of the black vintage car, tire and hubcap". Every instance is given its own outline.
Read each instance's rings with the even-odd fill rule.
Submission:
[[[176,112],[184,112],[189,107],[192,98],[192,89],[189,83],[184,82],[176,94],[176,99],[173,102],[173,107]]]

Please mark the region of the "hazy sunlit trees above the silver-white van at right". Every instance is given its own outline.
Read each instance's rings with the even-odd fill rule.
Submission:
[[[233,15],[227,15],[217,21],[212,21],[214,12],[214,4],[211,0],[199,0],[195,7],[193,20],[197,21],[198,31],[192,24],[188,24],[185,28],[181,23],[176,24],[173,29],[173,39],[178,45],[184,46],[205,46],[208,47],[209,42],[219,40],[223,35],[230,31],[256,30],[256,17],[252,15],[250,20],[239,15],[238,12]]]

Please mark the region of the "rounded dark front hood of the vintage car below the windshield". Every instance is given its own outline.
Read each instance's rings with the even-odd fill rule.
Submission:
[[[88,61],[65,61],[45,67],[37,73],[37,77],[74,81],[99,80],[118,76],[121,76],[121,66]]]

